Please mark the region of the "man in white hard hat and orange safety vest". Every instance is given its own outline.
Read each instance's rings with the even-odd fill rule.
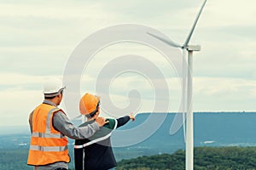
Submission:
[[[70,161],[67,137],[89,138],[107,123],[99,117],[89,126],[74,127],[64,111],[57,107],[61,104],[64,88],[60,79],[47,81],[43,104],[29,116],[32,137],[27,164],[34,166],[35,170],[67,170]]]

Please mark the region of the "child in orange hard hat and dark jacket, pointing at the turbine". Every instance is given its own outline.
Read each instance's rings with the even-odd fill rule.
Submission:
[[[86,127],[94,123],[100,114],[100,99],[92,94],[84,94],[80,100],[80,113],[87,117],[79,127]],[[76,170],[107,170],[116,167],[113,156],[110,136],[115,128],[125,125],[129,120],[134,121],[135,117],[120,117],[119,119],[107,119],[105,124],[93,136],[87,139],[76,139],[74,146]]]

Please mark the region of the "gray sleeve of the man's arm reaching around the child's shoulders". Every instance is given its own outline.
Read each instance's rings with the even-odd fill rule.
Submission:
[[[55,113],[53,116],[53,126],[56,130],[66,135],[71,139],[86,139],[90,138],[97,130],[100,129],[99,125],[94,122],[86,127],[75,127],[68,117],[61,111]]]

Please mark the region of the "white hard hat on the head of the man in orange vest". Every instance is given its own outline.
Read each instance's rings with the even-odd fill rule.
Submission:
[[[62,85],[60,78],[50,78],[44,83],[44,96],[45,97],[55,97],[56,95],[61,93],[64,87]]]

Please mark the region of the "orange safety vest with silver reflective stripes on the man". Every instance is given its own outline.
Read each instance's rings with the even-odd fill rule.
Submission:
[[[70,161],[67,137],[53,127],[52,118],[56,111],[61,109],[54,105],[41,104],[30,114],[32,137],[28,165],[40,166],[57,161]]]

